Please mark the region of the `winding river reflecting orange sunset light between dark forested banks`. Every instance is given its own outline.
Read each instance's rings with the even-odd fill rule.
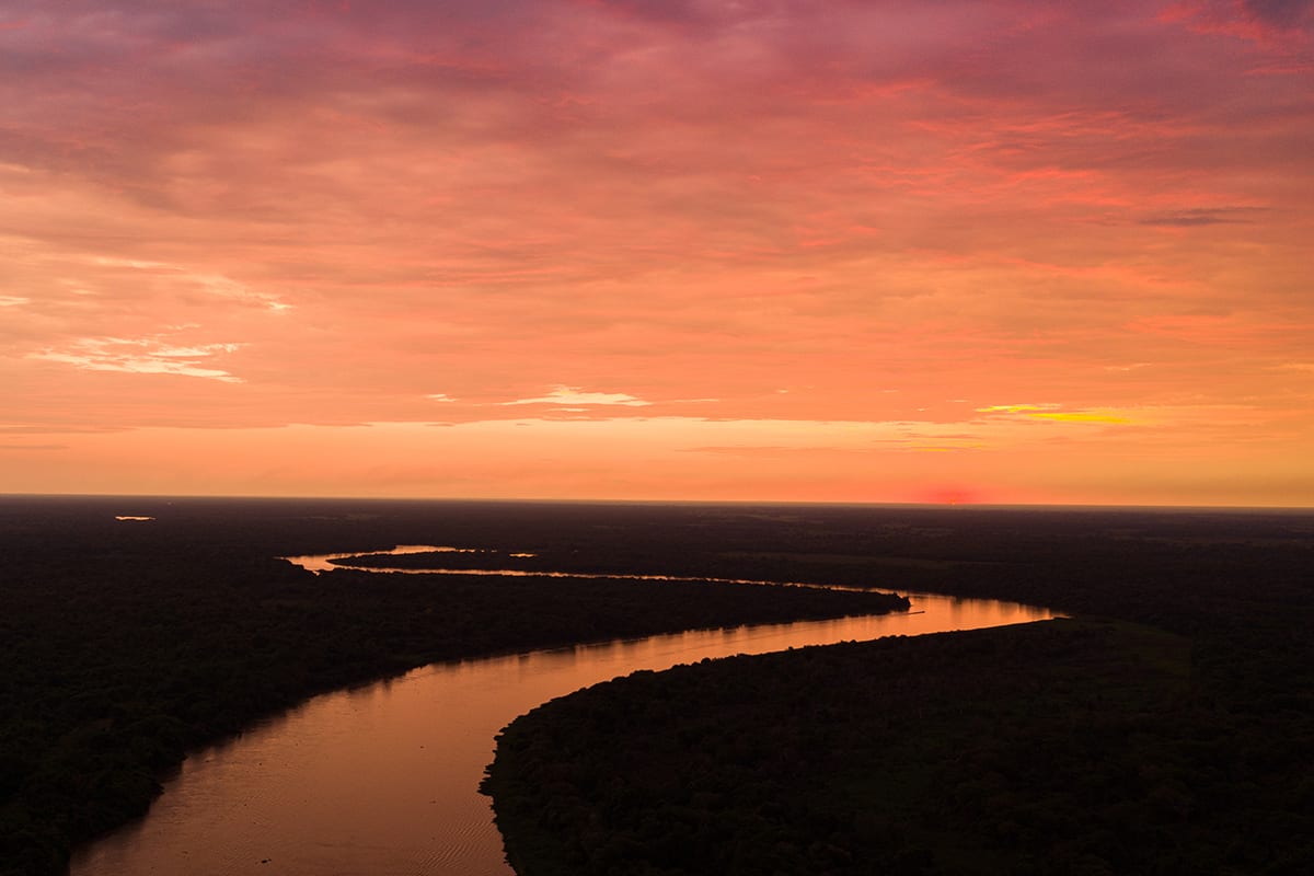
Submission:
[[[436,549],[396,549],[415,550]],[[289,559],[331,567],[327,556]],[[913,611],[901,615],[439,663],[317,696],[189,756],[142,821],[80,850],[71,873],[507,876],[512,871],[478,783],[498,730],[545,700],[708,657],[1053,617],[1014,603],[911,598]]]

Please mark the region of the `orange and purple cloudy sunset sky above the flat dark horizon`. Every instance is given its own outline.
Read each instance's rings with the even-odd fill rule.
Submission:
[[[1310,0],[0,0],[0,493],[1314,506],[1310,205]]]

